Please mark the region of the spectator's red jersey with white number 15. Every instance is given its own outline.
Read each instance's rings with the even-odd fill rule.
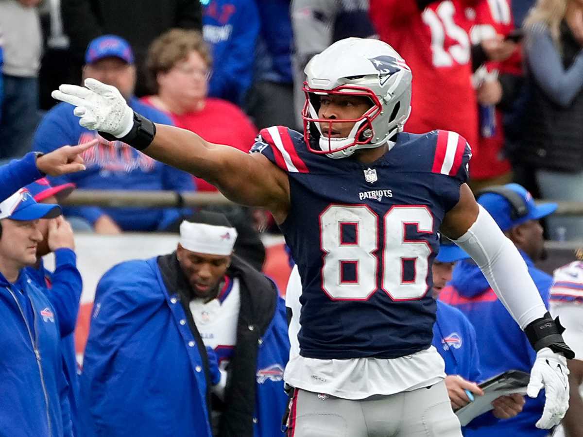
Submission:
[[[482,0],[444,0],[423,11],[415,0],[370,0],[371,20],[382,41],[413,72],[407,132],[459,132],[476,155],[477,104],[472,87],[469,31]]]

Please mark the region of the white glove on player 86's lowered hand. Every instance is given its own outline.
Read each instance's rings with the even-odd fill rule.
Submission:
[[[569,381],[567,358],[543,347],[536,354],[532,365],[531,380],[526,387],[529,397],[537,397],[540,389],[545,388],[545,408],[536,422],[536,427],[549,429],[558,425],[569,408]]]

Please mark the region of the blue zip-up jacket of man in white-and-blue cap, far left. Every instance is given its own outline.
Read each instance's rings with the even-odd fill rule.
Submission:
[[[0,274],[0,436],[72,436],[55,309],[25,270]]]

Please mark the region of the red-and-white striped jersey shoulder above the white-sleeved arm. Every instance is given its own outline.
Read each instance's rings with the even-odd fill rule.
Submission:
[[[470,145],[463,136],[456,132],[438,130],[431,133],[437,136],[431,172],[455,176],[463,164],[463,156],[466,154],[466,150],[468,160],[472,157]]]

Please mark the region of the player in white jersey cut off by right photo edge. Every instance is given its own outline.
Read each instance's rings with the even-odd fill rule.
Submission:
[[[554,437],[583,435],[583,263],[575,261],[554,271],[550,289],[550,312],[560,316],[563,338],[573,344],[575,359],[568,360],[569,409]]]

